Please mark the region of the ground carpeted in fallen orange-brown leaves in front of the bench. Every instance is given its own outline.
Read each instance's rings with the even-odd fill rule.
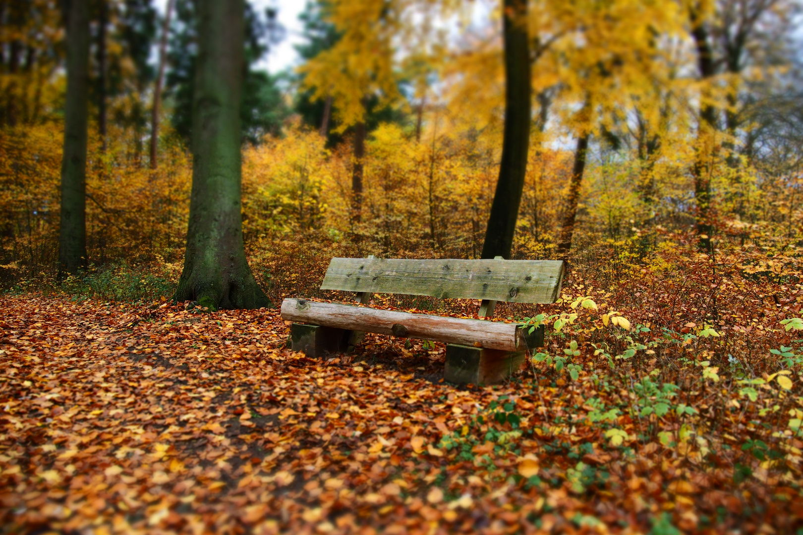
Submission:
[[[0,531],[803,526],[803,444],[789,432],[781,445],[748,440],[755,426],[716,387],[698,408],[736,415],[684,435],[686,405],[634,415],[629,393],[595,373],[604,360],[577,380],[531,367],[455,387],[441,345],[370,336],[352,357],[314,360],[285,348],[287,331],[278,310],[0,298]],[[800,407],[789,399],[782,412]]]

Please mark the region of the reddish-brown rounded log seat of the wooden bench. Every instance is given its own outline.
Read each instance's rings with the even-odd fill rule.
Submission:
[[[530,347],[535,347],[536,343],[536,338],[528,336],[526,330],[515,323],[410,314],[304,299],[285,299],[282,302],[282,318],[291,322],[338,329],[404,334],[406,338],[437,340],[463,346],[479,344],[480,347],[503,351],[524,351],[528,343]]]

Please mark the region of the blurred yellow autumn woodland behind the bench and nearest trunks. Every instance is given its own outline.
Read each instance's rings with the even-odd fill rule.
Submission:
[[[243,217],[263,286],[281,277],[271,257],[300,243],[479,257],[503,128],[499,13],[481,2],[374,3],[309,4],[304,63],[273,75],[255,64],[281,39],[280,16],[248,11]],[[93,274],[136,265],[166,282],[183,254],[197,36],[193,3],[169,6],[167,24],[147,0],[93,7]],[[55,274],[63,27],[55,2],[0,12],[2,277],[22,288]],[[701,217],[718,246],[793,255],[796,4],[540,2],[530,13],[532,142],[512,257],[565,254],[568,232],[577,261],[644,261]]]

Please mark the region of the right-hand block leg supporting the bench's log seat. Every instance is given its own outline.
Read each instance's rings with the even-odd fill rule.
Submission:
[[[446,346],[444,379],[456,384],[480,386],[499,383],[521,367],[526,351],[500,351],[482,347]]]

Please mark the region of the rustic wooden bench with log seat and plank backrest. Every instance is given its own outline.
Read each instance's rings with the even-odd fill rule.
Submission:
[[[373,294],[482,299],[479,316],[495,303],[552,303],[560,295],[563,261],[405,260],[332,258],[321,290],[357,292],[357,303]],[[450,383],[496,383],[524,362],[526,351],[544,344],[544,328],[483,319],[450,318],[378,310],[341,303],[284,299],[282,318],[293,322],[293,351],[319,357],[349,351],[365,332],[445,342],[445,378]]]

